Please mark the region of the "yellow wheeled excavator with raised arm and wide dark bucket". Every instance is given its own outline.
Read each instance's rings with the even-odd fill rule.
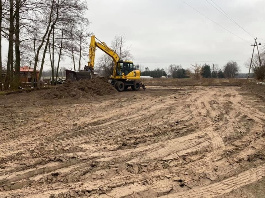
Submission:
[[[99,48],[113,59],[113,74],[109,78],[111,80],[111,84],[118,91],[127,90],[128,87],[131,87],[132,90],[139,90],[140,87],[146,90],[142,82],[138,81],[140,80],[141,73],[134,67],[133,62],[129,60],[120,60],[119,55],[111,48],[109,48],[105,42],[101,42],[99,39],[97,39],[99,42],[96,42],[95,39],[97,39],[95,35],[92,35],[89,47],[89,60],[87,62],[88,65],[85,65],[84,70],[81,70],[79,72],[72,71],[70,74],[66,74],[66,77],[68,76],[69,78],[69,76],[71,76],[71,78],[74,77],[75,80],[88,78],[87,76],[93,77],[95,51],[96,48]]]

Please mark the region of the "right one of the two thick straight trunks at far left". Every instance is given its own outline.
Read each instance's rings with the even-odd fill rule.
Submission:
[[[16,11],[15,11],[15,18],[16,18],[16,29],[15,29],[15,55],[16,55],[16,62],[15,62],[15,80],[14,85],[17,87],[19,83],[19,73],[20,73],[20,39],[19,39],[19,0],[16,0]]]

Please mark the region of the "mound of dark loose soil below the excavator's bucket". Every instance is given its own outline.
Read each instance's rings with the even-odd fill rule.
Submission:
[[[80,81],[66,81],[48,90],[43,97],[48,99],[80,98],[107,95],[117,90],[105,78],[84,79]]]

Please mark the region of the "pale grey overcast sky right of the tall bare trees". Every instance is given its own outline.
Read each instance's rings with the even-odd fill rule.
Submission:
[[[168,68],[170,64],[189,68],[195,62],[223,67],[227,61],[235,60],[241,72],[247,73],[244,60],[252,54],[250,43],[254,43],[254,38],[206,0],[183,1],[245,41],[181,0],[88,0],[86,17],[91,22],[90,31],[109,46],[115,34],[124,33],[135,64],[152,69]],[[208,1],[215,2],[246,31],[265,39],[264,0]],[[264,43],[261,39],[258,42]],[[6,52],[4,45],[3,53]],[[101,54],[98,49],[96,59]],[[62,64],[67,67],[70,62]],[[44,69],[48,68],[47,65]]]

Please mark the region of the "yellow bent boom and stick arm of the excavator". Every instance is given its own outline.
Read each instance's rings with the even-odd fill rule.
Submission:
[[[88,58],[88,68],[91,70],[94,69],[95,64],[95,52],[96,47],[98,47],[100,50],[104,51],[107,55],[109,55],[114,62],[114,68],[113,68],[113,76],[116,76],[116,66],[119,61],[119,56],[116,52],[114,52],[112,49],[110,49],[105,42],[96,42],[95,35],[91,36],[90,41],[90,47],[89,47],[89,58]]]

